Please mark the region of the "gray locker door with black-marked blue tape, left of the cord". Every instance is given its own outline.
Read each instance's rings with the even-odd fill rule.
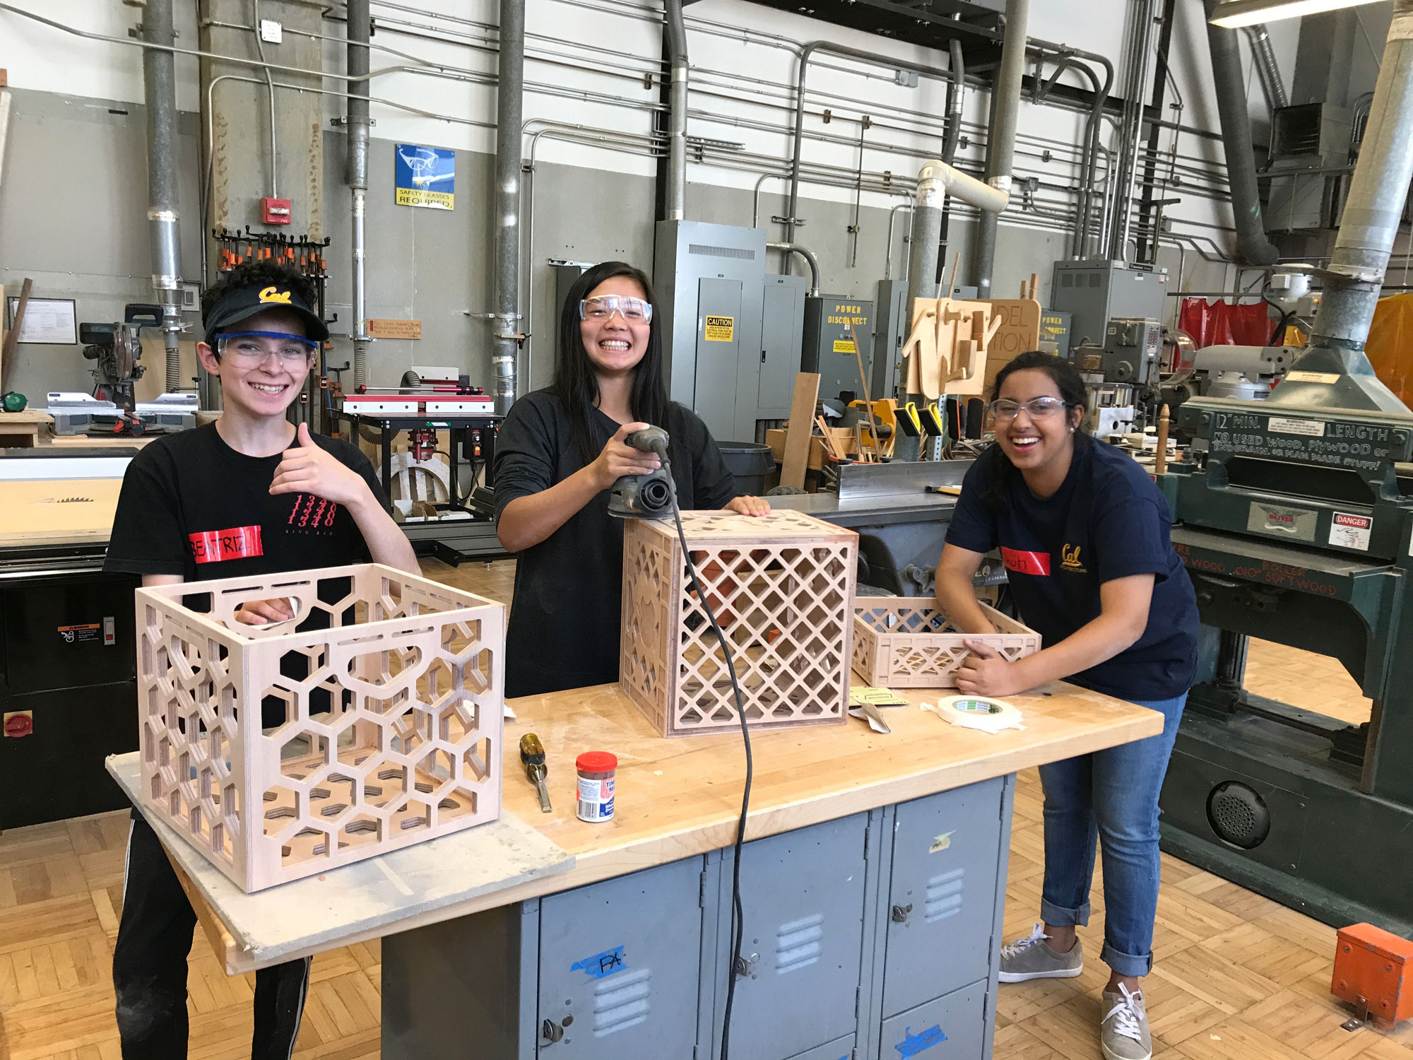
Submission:
[[[688,858],[541,899],[540,1057],[692,1054],[702,872]]]

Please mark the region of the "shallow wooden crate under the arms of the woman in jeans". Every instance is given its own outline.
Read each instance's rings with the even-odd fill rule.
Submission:
[[[991,644],[1009,661],[1040,650],[1040,635],[985,603],[999,633],[962,633],[928,596],[866,596],[853,608],[853,671],[883,688],[955,688],[962,640]]]

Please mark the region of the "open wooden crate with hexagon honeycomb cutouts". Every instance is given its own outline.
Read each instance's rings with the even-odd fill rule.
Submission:
[[[138,589],[137,630],[143,803],[242,889],[500,815],[504,605],[366,564]]]

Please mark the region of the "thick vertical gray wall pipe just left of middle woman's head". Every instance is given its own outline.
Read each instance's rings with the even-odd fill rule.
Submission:
[[[495,338],[490,372],[496,411],[516,400],[520,358],[520,126],[526,76],[524,0],[500,0],[500,69],[496,89],[496,213],[492,233]]]

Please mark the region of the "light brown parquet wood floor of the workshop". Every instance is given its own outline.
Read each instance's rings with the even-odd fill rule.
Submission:
[[[513,561],[456,570],[428,561],[425,568],[430,577],[473,592],[510,598]],[[1340,684],[1342,670],[1330,660],[1267,654],[1255,642],[1251,656],[1258,680],[1263,664],[1266,676],[1279,678],[1294,661],[1310,670],[1299,681],[1287,678],[1290,687],[1328,687],[1325,701],[1338,695],[1347,705],[1358,698]],[[0,1060],[120,1060],[110,964],[126,841],[126,813],[0,834]],[[1007,937],[1030,930],[1043,865],[1040,782],[1031,770],[1020,776],[1016,793]],[[1002,988],[998,1060],[1098,1059],[1099,989],[1106,978],[1098,961],[1101,886],[1096,873],[1092,924],[1080,931],[1089,954],[1084,975]],[[1348,1012],[1328,992],[1332,929],[1167,855],[1154,953],[1154,971],[1145,984],[1154,1057],[1413,1060],[1413,1025],[1388,1035],[1340,1029]],[[377,943],[314,960],[295,1057],[379,1056],[379,962]],[[249,1056],[252,991],[253,977],[223,975],[196,931],[188,1001],[192,1060]]]

